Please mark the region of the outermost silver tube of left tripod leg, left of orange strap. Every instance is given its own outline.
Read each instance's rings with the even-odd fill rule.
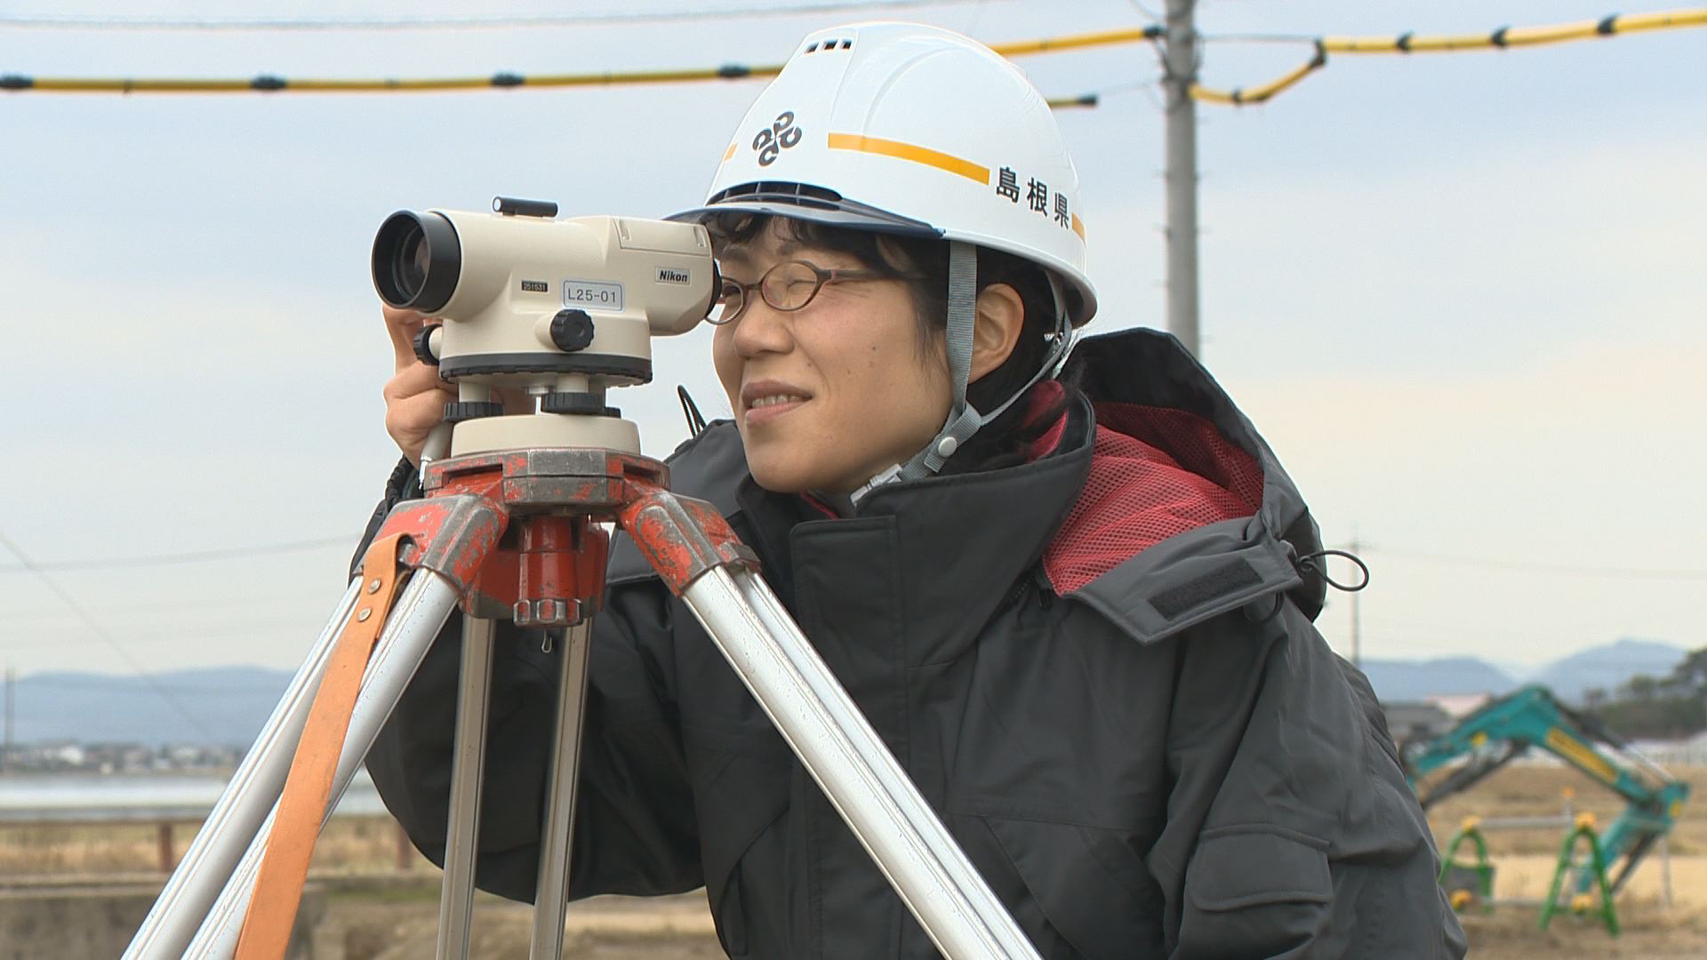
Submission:
[[[345,591],[338,612],[321,630],[314,647],[290,680],[285,695],[273,707],[254,745],[220,793],[213,811],[196,830],[195,842],[184,852],[178,869],[154,900],[149,917],[142,921],[125,960],[176,960],[183,955],[196,926],[207,917],[208,907],[218,897],[220,887],[242,859],[244,849],[268,817],[268,810],[285,786],[290,772],[290,755],[302,738],[309,717],[314,688],[326,671],[333,641],[360,596],[360,581]]]

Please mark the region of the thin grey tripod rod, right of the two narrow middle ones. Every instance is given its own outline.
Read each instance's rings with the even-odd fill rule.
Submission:
[[[575,781],[580,776],[580,719],[587,695],[587,654],[592,618],[563,629],[562,673],[556,694],[556,736],[551,745],[551,796],[539,844],[539,881],[534,888],[534,929],[529,960],[563,955],[563,916],[568,900],[570,840],[575,832]]]

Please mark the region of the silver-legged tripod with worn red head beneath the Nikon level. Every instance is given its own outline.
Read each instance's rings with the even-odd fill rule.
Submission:
[[[302,731],[312,726],[311,712],[316,717],[341,712],[340,723],[348,726],[347,736],[338,738],[341,746],[319,764],[324,772],[314,774],[324,784],[318,805],[307,801],[318,830],[434,637],[461,605],[463,680],[437,955],[468,957],[492,635],[497,618],[510,618],[522,627],[545,627],[550,642],[560,647],[558,724],[531,948],[533,960],[556,960],[563,946],[589,637],[604,593],[609,535],[603,524],[608,523],[638,545],[671,593],[688,605],[935,946],[956,960],[1036,958],[1017,924],[760,579],[756,557],[724,518],[702,500],[671,494],[667,468],[630,453],[638,448],[637,430],[611,417],[615,412],[546,413],[539,407],[533,415],[459,424],[456,456],[434,461],[423,471],[425,499],[405,500],[391,511],[376,547],[364,557],[360,576],[125,958],[224,958],[239,943],[242,957],[283,953],[300,875],[294,878],[295,890],[282,895],[256,895],[256,883],[266,880],[268,864],[277,863],[275,851],[292,847],[280,844],[277,834],[292,796],[302,796],[292,793],[299,769],[314,767],[304,762],[309,743]],[[502,437],[538,436],[541,446],[480,449],[488,434],[468,427],[485,429],[497,420],[512,422]],[[534,425],[538,429],[529,432]],[[473,439],[464,442],[466,436]],[[635,441],[630,444],[626,437]],[[398,591],[394,603],[379,603],[393,589]],[[324,704],[340,653],[350,649],[348,637],[362,629],[376,637],[362,641],[372,642],[372,656],[365,671],[357,670],[360,695],[347,711],[311,704],[316,687]],[[302,752],[292,764],[299,740]],[[304,774],[302,779],[312,777]],[[312,789],[307,794],[316,796]],[[306,844],[312,849],[312,830]],[[285,849],[280,856],[294,858],[306,873],[307,852]],[[288,909],[280,909],[282,900],[288,900]],[[271,922],[256,921],[251,904],[258,904],[259,912],[270,909]]]

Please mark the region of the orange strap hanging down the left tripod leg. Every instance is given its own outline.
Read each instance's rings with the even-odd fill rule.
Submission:
[[[333,646],[302,740],[290,760],[290,776],[278,798],[278,815],[261,858],[249,912],[242,917],[236,960],[280,960],[290,945],[290,928],[295,926],[302,902],[314,840],[326,820],[338,755],[350,731],[357,694],[362,692],[362,673],[367,671],[367,658],[374,653],[396,598],[401,576],[398,547],[403,536],[396,533],[376,540],[362,557],[360,600]]]

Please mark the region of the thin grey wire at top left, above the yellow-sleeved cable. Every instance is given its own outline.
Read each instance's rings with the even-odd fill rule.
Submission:
[[[973,0],[871,0],[848,3],[696,7],[688,10],[604,10],[579,14],[449,14],[442,17],[111,17],[97,14],[0,14],[0,27],[102,31],[442,31],[589,27],[729,17],[804,17],[838,10],[949,7]]]

